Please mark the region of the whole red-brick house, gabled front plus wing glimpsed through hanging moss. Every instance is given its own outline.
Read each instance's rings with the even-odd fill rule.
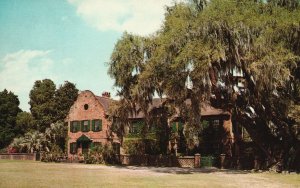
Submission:
[[[120,151],[119,140],[111,132],[111,122],[108,120],[108,108],[111,101],[112,99],[108,92],[104,92],[102,96],[96,96],[88,90],[80,92],[65,120],[68,124],[69,158],[87,153],[92,146],[104,145],[108,141],[113,141],[114,148],[118,152]],[[161,108],[164,101],[164,99],[153,99],[149,110]],[[134,127],[137,125],[136,123],[144,121],[144,114],[140,110],[137,111],[139,113],[129,117],[132,122],[129,130],[133,132],[136,129]],[[206,104],[201,109],[201,119],[206,121],[209,127],[219,129],[219,134],[213,132],[209,136],[210,142],[207,148],[212,150],[206,151],[207,149],[203,145],[203,152],[212,153],[218,150],[223,153],[224,151],[221,150],[224,150],[224,147],[230,146],[233,142],[230,113]],[[141,124],[143,123],[140,123],[139,126]],[[171,124],[172,131],[182,132],[183,124],[179,114],[177,114],[177,117]],[[171,148],[179,149],[180,146],[177,146],[177,142],[176,140],[170,140]]]

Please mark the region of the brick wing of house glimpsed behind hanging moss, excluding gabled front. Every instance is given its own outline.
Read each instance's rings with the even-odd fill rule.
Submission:
[[[149,112],[160,111],[163,108],[166,99],[154,98],[149,107]],[[191,105],[191,101],[187,99],[186,105]],[[139,137],[140,126],[145,125],[145,115],[141,109],[137,107],[138,113],[133,114],[129,117],[131,125],[128,132],[131,133],[130,137],[136,135]],[[170,152],[177,155],[177,153],[185,153],[186,145],[182,144],[185,142],[183,128],[184,120],[180,116],[179,109],[176,108],[176,113],[171,117],[170,122],[170,140],[168,149]],[[201,123],[203,127],[203,134],[198,135],[201,140],[199,148],[201,154],[214,155],[217,153],[225,153],[228,156],[232,156],[232,146],[234,142],[234,134],[232,130],[231,114],[228,111],[214,108],[209,103],[203,102],[201,104]],[[155,127],[155,125],[153,125]],[[152,125],[150,125],[150,130]],[[199,152],[199,150],[197,151]]]

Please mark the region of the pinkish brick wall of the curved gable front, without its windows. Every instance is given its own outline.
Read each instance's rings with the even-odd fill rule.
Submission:
[[[88,105],[88,109],[84,109],[84,105]],[[76,133],[72,133],[70,131],[71,122],[72,121],[83,121],[83,120],[94,120],[101,119],[102,120],[102,131],[93,132],[90,128],[89,132],[81,132],[78,131]],[[70,143],[76,142],[76,140],[84,134],[93,142],[101,142],[102,144],[107,143],[109,136],[109,121],[105,118],[105,111],[101,103],[95,97],[95,95],[91,91],[83,91],[79,94],[77,100],[71,107],[69,114],[66,118],[66,122],[68,123],[68,156],[72,156],[70,154]],[[90,123],[90,127],[92,124]],[[78,153],[81,150],[79,148]]]

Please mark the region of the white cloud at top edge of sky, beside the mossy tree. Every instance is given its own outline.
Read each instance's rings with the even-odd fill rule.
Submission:
[[[173,0],[68,0],[77,14],[100,31],[148,35],[157,31]]]

